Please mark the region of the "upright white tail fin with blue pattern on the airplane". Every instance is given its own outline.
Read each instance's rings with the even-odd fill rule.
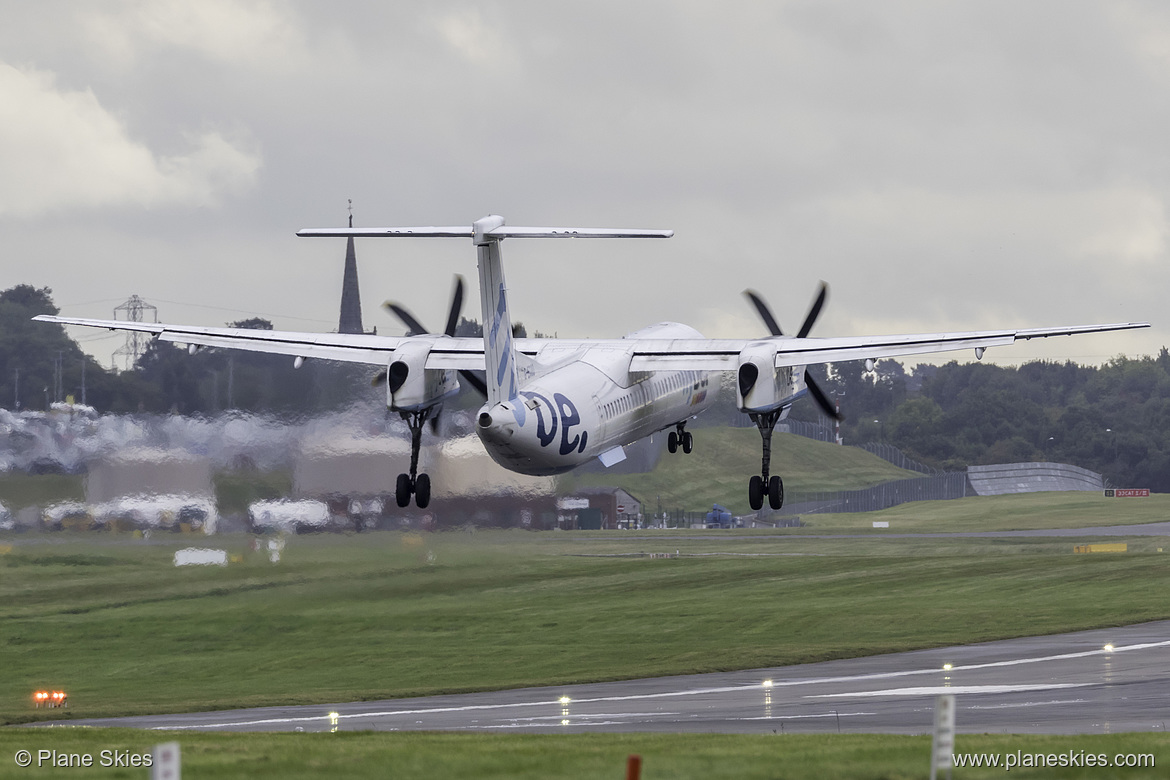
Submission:
[[[488,406],[516,396],[516,351],[512,347],[508,287],[500,257],[500,239],[488,235],[503,227],[502,216],[484,216],[473,225],[480,264],[480,299],[483,306],[483,357],[488,380]]]

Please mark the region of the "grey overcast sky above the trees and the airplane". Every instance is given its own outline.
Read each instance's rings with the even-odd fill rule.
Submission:
[[[0,0],[0,285],[337,326],[302,227],[673,228],[504,244],[514,319],[817,336],[1150,320],[1170,344],[1170,4]],[[439,326],[463,240],[365,240],[366,326]],[[477,297],[464,315],[479,318]],[[119,338],[75,332],[106,365]],[[968,360],[972,356],[957,353]],[[929,359],[929,358],[928,358]],[[935,361],[951,359],[940,356]],[[907,363],[913,365],[918,359]]]

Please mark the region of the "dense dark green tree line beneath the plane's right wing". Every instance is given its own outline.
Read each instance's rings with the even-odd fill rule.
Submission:
[[[920,364],[825,375],[846,414],[847,443],[883,441],[942,469],[1072,463],[1117,486],[1170,491],[1170,352],[1073,361]]]

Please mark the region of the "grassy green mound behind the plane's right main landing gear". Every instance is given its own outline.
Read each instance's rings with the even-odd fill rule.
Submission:
[[[571,474],[564,488],[615,485],[654,511],[659,497],[666,510],[708,510],[718,503],[743,515],[748,478],[759,474],[760,439],[755,428],[698,428],[695,450],[666,454],[649,474]],[[790,492],[855,490],[890,479],[920,477],[855,447],[839,447],[793,434],[772,437],[772,474],[784,477]]]

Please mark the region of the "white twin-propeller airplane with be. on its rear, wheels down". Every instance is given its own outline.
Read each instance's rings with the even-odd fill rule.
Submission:
[[[776,424],[804,396],[830,416],[840,419],[807,371],[823,363],[865,360],[867,370],[882,358],[973,350],[978,359],[991,347],[1019,340],[1149,327],[1149,323],[1071,325],[949,333],[910,333],[846,338],[808,336],[827,297],[821,283],[796,336],[786,336],[768,304],[756,292],[745,295],[769,334],[751,339],[706,339],[681,323],[659,323],[617,339],[514,338],[508,287],[500,244],[505,239],[669,239],[673,230],[621,228],[514,227],[498,215],[470,226],[398,228],[308,228],[298,236],[316,237],[457,237],[476,248],[483,338],[454,337],[462,303],[456,284],[447,327],[427,333],[397,304],[387,304],[407,322],[411,334],[302,333],[163,323],[99,320],[42,315],[36,320],[109,330],[149,332],[164,341],[186,344],[188,351],[227,347],[289,356],[305,360],[339,360],[383,366],[374,384],[385,384],[386,406],[411,430],[411,464],[395,483],[395,501],[420,509],[431,501],[431,479],[418,471],[422,427],[438,420],[442,406],[460,391],[459,377],[481,391],[486,402],[475,429],[496,463],[534,476],[570,471],[600,460],[606,467],[625,460],[625,446],[668,430],[667,448],[690,453],[694,436],[687,423],[716,398],[721,382],[713,374],[734,372],[736,405],[756,423],[762,440],[759,474],[748,482],[753,510],[766,499],[784,504],[784,482],[771,470]],[[484,372],[480,380],[477,372]]]

